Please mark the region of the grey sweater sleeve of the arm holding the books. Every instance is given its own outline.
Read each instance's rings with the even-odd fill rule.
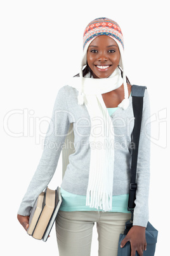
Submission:
[[[46,188],[55,173],[58,159],[62,151],[62,145],[70,127],[65,88],[66,87],[62,87],[56,96],[51,121],[49,122],[48,131],[44,140],[42,156],[36,172],[30,181],[29,187],[27,188],[27,192],[22,199],[22,203],[20,204],[18,210],[19,215],[30,215],[30,209],[34,206],[37,197],[44,188]]]

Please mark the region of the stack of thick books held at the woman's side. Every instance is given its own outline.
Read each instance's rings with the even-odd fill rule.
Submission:
[[[60,188],[51,190],[47,187],[45,192],[37,197],[31,210],[27,233],[33,238],[46,242],[61,204]]]

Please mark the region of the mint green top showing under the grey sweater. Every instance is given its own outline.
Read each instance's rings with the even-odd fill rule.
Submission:
[[[117,107],[118,108],[118,107]],[[112,115],[117,108],[107,108],[109,115]],[[86,206],[86,196],[71,194],[63,188],[60,189],[63,197],[61,211],[101,211],[96,208]],[[112,212],[129,213],[128,208],[129,194],[112,197]]]

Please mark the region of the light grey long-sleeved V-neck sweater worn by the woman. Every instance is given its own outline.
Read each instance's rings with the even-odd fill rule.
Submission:
[[[70,124],[74,129],[75,152],[69,156],[69,164],[61,187],[72,194],[86,196],[88,187],[91,148],[89,134],[91,122],[86,106],[77,103],[78,92],[68,85],[62,87],[56,97],[49,129],[44,141],[44,150],[36,172],[22,199],[18,214],[30,215],[37,196],[46,188],[55,173],[58,159],[65,145],[65,137]],[[131,134],[134,127],[132,97],[126,110],[118,108],[112,115],[114,125],[114,185],[113,196],[129,193],[131,167]],[[133,225],[147,226],[148,190],[150,180],[150,106],[145,90],[143,117],[141,123],[140,146],[138,152],[136,201]]]

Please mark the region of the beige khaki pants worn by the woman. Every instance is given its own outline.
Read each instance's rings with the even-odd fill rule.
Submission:
[[[91,255],[95,222],[98,232],[98,255],[117,256],[119,234],[124,232],[125,222],[130,218],[130,213],[59,211],[56,218],[56,238],[60,256]]]

